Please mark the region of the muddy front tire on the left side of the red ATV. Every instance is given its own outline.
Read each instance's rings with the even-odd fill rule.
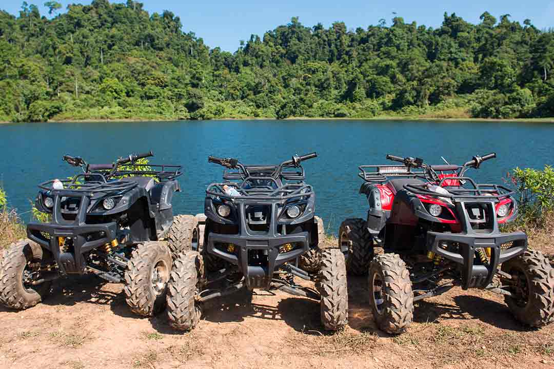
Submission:
[[[398,254],[377,255],[369,268],[370,304],[379,329],[398,334],[413,320],[410,273]]]

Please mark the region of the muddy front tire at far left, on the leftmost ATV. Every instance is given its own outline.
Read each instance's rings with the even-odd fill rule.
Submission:
[[[30,240],[12,243],[4,250],[0,261],[0,303],[23,310],[42,302],[49,294],[52,282],[25,287],[23,273],[29,262],[41,263],[44,250]]]

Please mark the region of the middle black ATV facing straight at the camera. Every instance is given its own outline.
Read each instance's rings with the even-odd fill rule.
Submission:
[[[316,299],[326,329],[347,324],[345,260],[340,250],[318,247],[323,224],[300,165],[316,156],[295,155],[279,165],[208,158],[237,170],[225,170],[226,182],[208,186],[206,220],[198,227],[202,248],[181,254],[173,265],[167,294],[173,327],[194,328],[202,303],[241,289],[280,289]],[[316,282],[316,290],[301,287],[294,277]]]

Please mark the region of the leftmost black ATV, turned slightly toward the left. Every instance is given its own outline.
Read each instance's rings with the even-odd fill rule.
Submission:
[[[26,309],[50,293],[54,279],[93,273],[125,283],[135,313],[162,309],[172,253],[192,247],[196,222],[173,217],[181,167],[137,163],[152,155],[129,155],[114,164],[64,156],[83,173],[39,185],[36,207],[49,221],[30,222],[28,239],[4,252],[0,302]]]

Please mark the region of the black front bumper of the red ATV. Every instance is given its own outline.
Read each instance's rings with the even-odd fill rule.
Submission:
[[[476,256],[476,249],[489,249],[488,262]],[[460,264],[463,289],[485,288],[493,280],[500,263],[527,250],[527,235],[512,233],[427,232],[427,250]]]

